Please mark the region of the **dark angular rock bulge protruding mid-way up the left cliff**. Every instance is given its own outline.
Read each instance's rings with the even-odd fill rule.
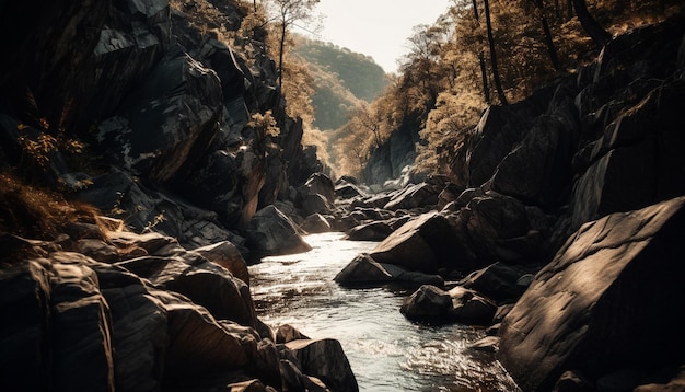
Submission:
[[[165,182],[194,159],[191,152],[207,150],[218,131],[221,101],[217,73],[178,47],[147,74],[116,116],[100,124],[97,141],[107,146],[112,162]]]

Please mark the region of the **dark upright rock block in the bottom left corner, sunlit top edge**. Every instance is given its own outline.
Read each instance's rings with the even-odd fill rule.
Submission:
[[[0,389],[115,390],[109,309],[89,261],[54,253],[0,269]]]

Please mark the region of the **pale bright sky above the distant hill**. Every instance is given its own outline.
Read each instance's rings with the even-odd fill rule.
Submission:
[[[418,24],[433,24],[450,0],[321,0],[316,39],[373,57],[385,72],[396,72],[408,53],[407,38]]]

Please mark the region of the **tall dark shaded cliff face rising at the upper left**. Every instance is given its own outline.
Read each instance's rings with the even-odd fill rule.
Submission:
[[[39,15],[24,20],[32,9]],[[233,239],[322,169],[315,151],[304,157],[302,122],[285,114],[264,45],[228,38],[244,16],[239,4],[28,1],[5,11],[2,28],[31,34],[2,65],[1,157],[19,164],[23,134],[80,137],[103,158],[98,176],[72,173],[57,151],[46,182],[69,185],[138,231],[190,246]],[[267,111],[278,137],[248,126]],[[144,196],[128,206],[136,187]]]

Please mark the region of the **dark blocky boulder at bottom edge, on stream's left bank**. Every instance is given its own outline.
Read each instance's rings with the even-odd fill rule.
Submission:
[[[340,342],[335,339],[292,341],[286,346],[302,365],[302,372],[322,380],[332,391],[357,392],[359,385]]]

